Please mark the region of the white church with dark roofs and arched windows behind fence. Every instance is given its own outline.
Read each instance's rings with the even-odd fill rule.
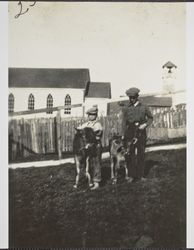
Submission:
[[[99,115],[107,115],[110,98],[111,84],[91,82],[89,69],[9,68],[9,114],[64,106],[61,116],[80,117],[97,105]],[[65,108],[72,104],[82,106]],[[35,116],[53,115],[54,112],[44,112]]]

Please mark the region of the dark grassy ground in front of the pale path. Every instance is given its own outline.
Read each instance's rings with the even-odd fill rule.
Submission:
[[[186,150],[146,154],[145,182],[73,190],[75,166],[10,169],[10,247],[185,247]]]

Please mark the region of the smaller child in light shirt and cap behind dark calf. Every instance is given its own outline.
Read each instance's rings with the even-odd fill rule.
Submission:
[[[93,106],[90,108],[86,114],[88,115],[88,122],[85,122],[81,126],[78,127],[78,129],[83,129],[85,127],[92,128],[96,135],[96,156],[91,157],[90,159],[90,169],[92,171],[92,179],[93,179],[93,187],[91,187],[91,190],[95,190],[99,188],[99,183],[101,181],[101,156],[102,156],[102,144],[101,144],[101,138],[102,138],[102,125],[97,120],[98,117],[98,108],[96,106]]]

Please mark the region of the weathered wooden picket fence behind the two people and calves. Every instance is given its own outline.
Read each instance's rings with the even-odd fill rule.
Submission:
[[[102,144],[108,146],[113,133],[121,133],[119,116],[100,117],[104,128]],[[57,153],[72,151],[75,128],[86,118],[61,118],[60,112],[54,118],[10,119],[9,121],[9,158],[15,160],[31,154]],[[148,129],[149,140],[186,137],[186,110],[170,110],[154,114],[152,126]]]

